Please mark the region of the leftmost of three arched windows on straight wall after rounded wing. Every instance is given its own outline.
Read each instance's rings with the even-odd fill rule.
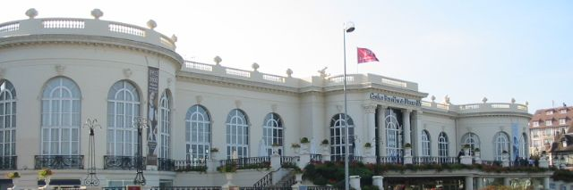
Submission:
[[[201,105],[193,105],[185,116],[187,158],[192,161],[208,159],[210,151],[211,120]]]

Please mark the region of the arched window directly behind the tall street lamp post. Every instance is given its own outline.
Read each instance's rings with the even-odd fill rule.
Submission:
[[[351,117],[348,117],[348,134],[351,138],[351,145],[349,154],[355,154],[355,145],[353,142],[355,135],[355,122]],[[344,113],[338,113],[330,120],[330,155],[332,161],[344,161],[346,153],[346,124]]]

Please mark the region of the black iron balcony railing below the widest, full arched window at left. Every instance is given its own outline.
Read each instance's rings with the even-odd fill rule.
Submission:
[[[36,155],[35,169],[83,169],[83,155]]]

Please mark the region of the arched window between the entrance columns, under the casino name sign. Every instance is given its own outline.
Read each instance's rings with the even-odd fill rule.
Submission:
[[[402,155],[401,114],[393,109],[386,110],[386,153],[388,156]]]

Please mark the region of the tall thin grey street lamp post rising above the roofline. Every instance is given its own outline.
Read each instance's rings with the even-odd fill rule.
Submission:
[[[348,157],[350,155],[350,139],[348,133],[348,110],[346,106],[346,33],[350,33],[355,30],[355,23],[353,22],[346,22],[344,24],[344,30],[342,32],[342,41],[343,41],[343,49],[344,49],[344,86],[342,91],[344,92],[344,126],[346,128],[346,153],[345,153],[345,160],[344,160],[344,178],[345,178],[345,189],[350,189],[350,182],[348,178]]]

